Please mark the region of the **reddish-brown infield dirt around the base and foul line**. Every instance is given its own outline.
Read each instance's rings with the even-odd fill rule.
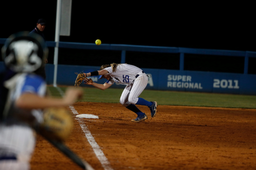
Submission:
[[[86,125],[113,170],[256,170],[256,109],[158,106],[148,119],[120,104],[77,102],[78,114],[65,142],[95,170],[104,170],[80,123]],[[67,108],[70,110],[69,108]],[[79,121],[79,122],[78,122]],[[31,170],[80,170],[42,137],[37,136]]]

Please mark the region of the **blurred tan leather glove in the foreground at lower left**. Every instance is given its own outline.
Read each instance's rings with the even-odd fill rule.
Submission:
[[[48,139],[63,142],[71,134],[72,129],[72,116],[65,108],[47,108],[38,132]]]

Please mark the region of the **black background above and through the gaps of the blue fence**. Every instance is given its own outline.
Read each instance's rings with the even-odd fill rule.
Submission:
[[[0,38],[18,31],[31,31],[39,18],[47,21],[47,41],[54,41],[57,0],[5,1],[0,5]],[[173,1],[81,1],[72,0],[70,36],[60,41],[131,44],[256,51],[252,4]],[[54,49],[49,48],[49,63]],[[170,57],[171,56],[171,57]],[[190,56],[185,70],[243,72],[243,58]],[[95,65],[120,62],[120,52],[59,48],[59,64]],[[179,69],[175,54],[126,53],[127,63],[143,68]],[[249,73],[256,74],[249,58]],[[223,67],[223,65],[226,65]],[[255,72],[255,73],[254,73]]]

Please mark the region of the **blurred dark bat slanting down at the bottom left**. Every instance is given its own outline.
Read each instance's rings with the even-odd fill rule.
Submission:
[[[83,170],[94,170],[86,161],[80,159],[75,153],[73,153],[65,144],[62,142],[58,142],[52,139],[49,139],[42,135],[49,143],[51,143],[54,147],[56,147],[61,153],[67,156],[70,160],[72,160],[76,165],[78,165]]]

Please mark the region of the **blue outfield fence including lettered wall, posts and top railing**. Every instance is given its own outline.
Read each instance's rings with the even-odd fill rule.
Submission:
[[[5,39],[0,38],[0,44]],[[46,41],[49,47],[55,47],[56,43]],[[71,49],[89,49],[89,50],[110,50],[121,51],[120,63],[127,60],[126,51],[156,52],[156,53],[176,53],[179,54],[179,69],[150,69],[143,68],[149,75],[149,81],[146,89],[153,90],[173,90],[173,91],[191,91],[191,92],[211,92],[211,93],[231,93],[231,94],[250,94],[256,95],[256,74],[248,74],[249,59],[256,58],[256,52],[253,51],[231,51],[231,50],[211,50],[211,49],[192,49],[181,47],[156,47],[156,46],[138,46],[122,44],[101,44],[93,43],[74,43],[59,42],[60,48]],[[221,73],[208,71],[188,71],[184,70],[185,54],[196,55],[217,55],[243,57],[243,73]],[[75,53],[74,53],[75,55]],[[207,57],[207,56],[205,56]],[[92,57],[90,57],[92,58]],[[166,61],[167,62],[167,61]],[[222,62],[222,61],[219,61]],[[132,63],[131,63],[132,64]],[[133,65],[137,65],[136,63]],[[217,66],[216,66],[217,67]],[[235,67],[235,66],[234,66]],[[254,65],[252,66],[254,68]],[[99,66],[75,66],[75,65],[57,65],[57,84],[74,85],[76,74],[74,72],[91,72],[98,70]],[[0,71],[3,70],[3,63],[0,62]],[[54,65],[46,64],[46,82],[53,84]],[[97,83],[104,83],[104,80],[97,80]],[[82,86],[85,86],[82,84]],[[124,88],[122,85],[112,85],[114,88]]]

